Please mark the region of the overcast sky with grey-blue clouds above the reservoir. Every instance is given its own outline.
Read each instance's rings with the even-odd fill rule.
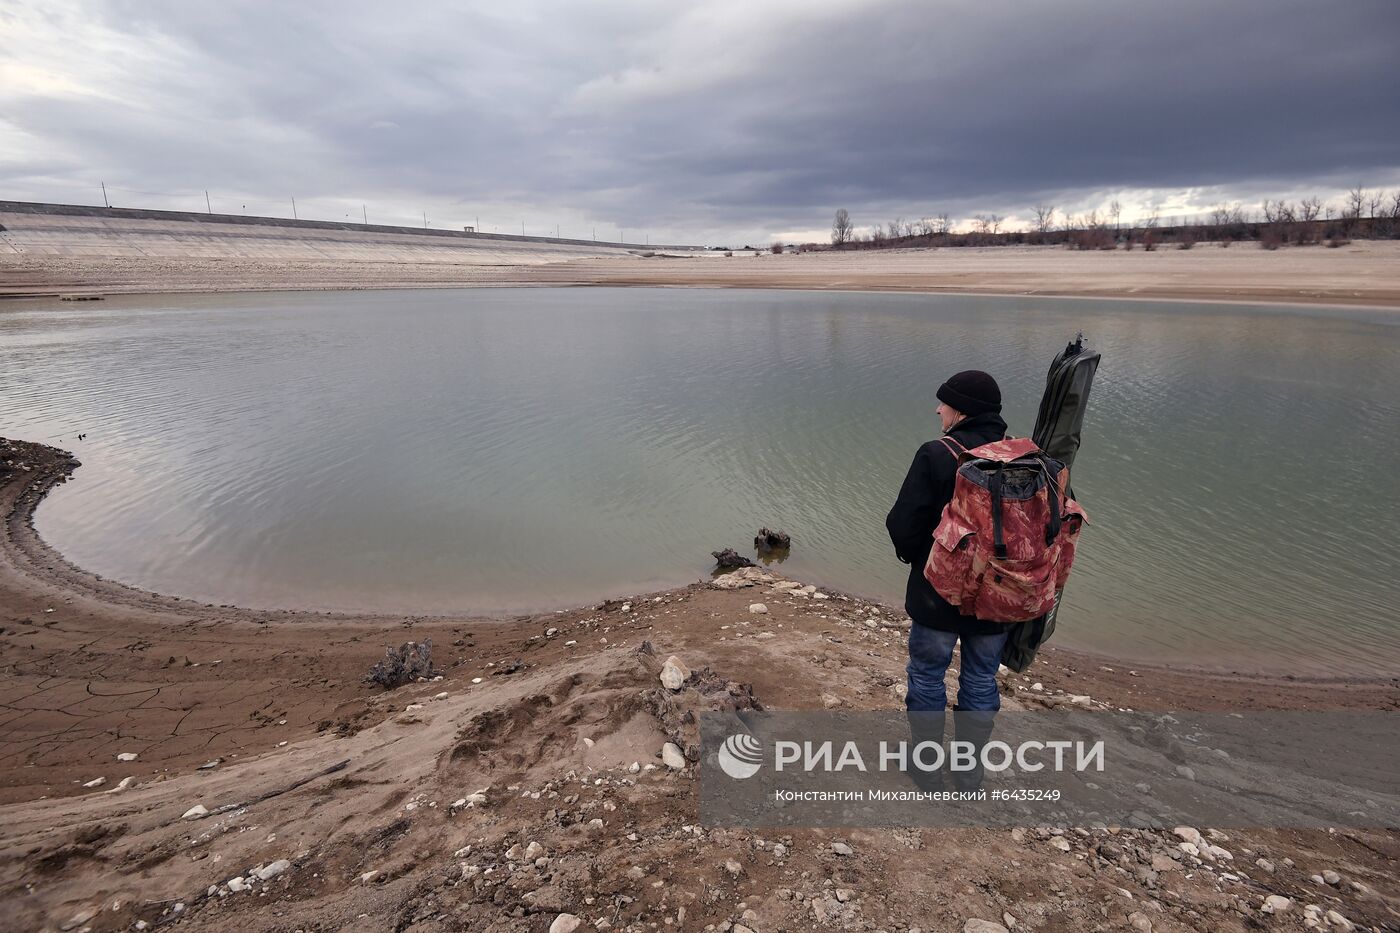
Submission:
[[[767,242],[1400,189],[1396,0],[0,0],[0,199]]]

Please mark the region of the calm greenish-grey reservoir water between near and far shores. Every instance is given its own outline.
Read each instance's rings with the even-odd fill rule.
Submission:
[[[0,430],[84,466],[77,563],[213,602],[517,611],[784,572],[899,600],[883,516],[952,371],[1029,433],[1103,352],[1065,644],[1299,671],[1400,660],[1400,328],[1362,312],[734,290],[0,305]],[[76,434],[87,431],[85,441]]]

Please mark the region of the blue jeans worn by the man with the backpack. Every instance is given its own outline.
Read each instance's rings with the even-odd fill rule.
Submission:
[[[997,692],[997,667],[1001,664],[1001,649],[1007,644],[1005,632],[995,635],[972,635],[962,637],[962,670],[958,675],[958,709],[991,710],[1001,709],[1001,693]],[[944,674],[953,660],[956,632],[939,632],[917,622],[909,626],[909,695],[904,707],[911,713],[941,713],[948,709],[948,691]]]

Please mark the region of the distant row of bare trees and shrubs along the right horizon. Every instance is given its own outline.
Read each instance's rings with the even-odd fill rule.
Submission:
[[[1021,230],[1004,230],[1004,217],[979,214],[970,230],[953,230],[948,214],[904,220],[857,230],[850,214],[841,209],[832,223],[829,244],[788,244],[788,249],[889,249],[900,247],[1012,247],[1063,245],[1070,249],[1156,249],[1172,247],[1190,249],[1200,242],[1229,247],[1253,242],[1264,249],[1282,245],[1308,247],[1326,244],[1341,247],[1351,240],[1400,238],[1400,191],[1366,191],[1354,188],[1337,207],[1320,198],[1306,198],[1291,203],[1266,199],[1257,212],[1242,205],[1221,205],[1201,217],[1163,221],[1156,213],[1137,223],[1120,223],[1117,202],[1109,210],[1086,214],[1060,213],[1053,205],[1036,205],[1033,220]],[[774,244],[773,252],[783,252]]]

